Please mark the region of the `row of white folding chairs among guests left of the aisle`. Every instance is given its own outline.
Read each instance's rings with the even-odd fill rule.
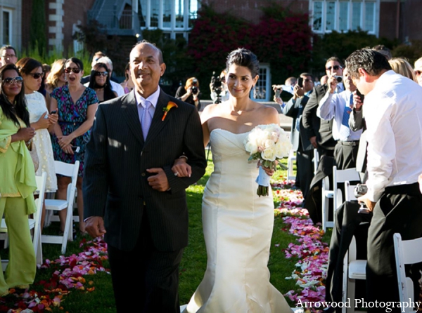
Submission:
[[[37,182],[37,192],[39,194],[38,199],[35,200],[37,205],[37,212],[34,213],[33,218],[28,220],[30,229],[32,229],[32,243],[34,246],[35,255],[37,256],[37,265],[41,265],[43,262],[42,259],[42,244],[61,244],[61,253],[66,252],[66,247],[68,241],[72,241],[72,221],[73,221],[73,208],[76,194],[76,182],[77,182],[77,173],[79,169],[79,161],[76,161],[75,164],[67,164],[60,161],[55,161],[54,166],[56,173],[59,175],[64,175],[72,178],[70,184],[68,185],[68,193],[66,200],[59,199],[44,199],[45,189],[46,189],[46,173],[42,173],[41,176],[36,176]],[[46,204],[46,219],[54,219],[56,216],[53,216],[53,211],[62,211],[68,209],[65,222],[65,230],[63,235],[41,235],[41,212],[43,202],[45,200]],[[58,220],[58,218],[57,218]],[[0,239],[5,241],[5,246],[8,242],[7,237],[7,225],[4,218],[1,219],[0,225]],[[6,269],[8,265],[8,260],[1,260],[1,266],[3,270]]]

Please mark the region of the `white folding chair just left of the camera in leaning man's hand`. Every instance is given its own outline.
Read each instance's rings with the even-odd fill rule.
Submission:
[[[327,227],[333,227],[334,222],[328,221],[328,201],[333,198],[334,211],[343,203],[343,194],[338,189],[337,184],[345,181],[360,180],[359,173],[356,168],[347,168],[345,170],[338,170],[337,166],[333,166],[333,189],[330,189],[330,180],[328,177],[322,180],[322,229],[324,232]]]

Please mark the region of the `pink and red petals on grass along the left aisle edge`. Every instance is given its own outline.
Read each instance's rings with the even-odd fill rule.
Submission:
[[[63,309],[63,296],[72,289],[94,291],[93,282],[87,281],[83,275],[107,272],[103,267],[103,260],[108,258],[107,244],[102,239],[82,239],[79,246],[83,251],[77,255],[60,255],[57,260],[45,260],[40,268],[54,270],[48,281],[39,281],[31,285],[31,290],[23,292],[18,292],[15,288],[10,289],[6,297],[0,298],[0,312],[51,312],[51,307]]]

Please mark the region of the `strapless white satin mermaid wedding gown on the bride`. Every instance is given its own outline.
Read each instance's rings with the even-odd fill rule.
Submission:
[[[248,133],[210,134],[214,172],[203,195],[207,270],[184,312],[292,312],[269,282],[274,204],[257,196],[257,161],[248,162]]]

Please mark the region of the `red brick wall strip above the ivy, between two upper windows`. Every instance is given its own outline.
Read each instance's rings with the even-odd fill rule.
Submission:
[[[309,12],[308,0],[276,0],[275,2],[285,7],[289,6],[295,12]],[[230,13],[238,18],[257,23],[262,16],[260,7],[269,6],[271,2],[262,0],[203,0],[202,3],[211,6],[218,13]]]

